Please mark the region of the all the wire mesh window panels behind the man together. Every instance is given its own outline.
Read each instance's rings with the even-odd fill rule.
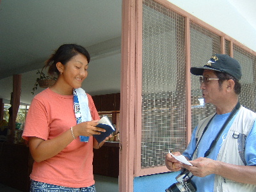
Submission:
[[[185,19],[156,3],[143,1],[143,66],[141,116],[141,168],[164,164],[164,152],[186,148]],[[221,37],[190,21],[191,67],[202,66],[212,54],[221,53]],[[225,40],[225,54],[230,55]],[[256,56],[234,45],[234,58],[241,63],[243,77],[240,102],[256,110]],[[215,112],[205,104],[199,77],[191,75],[192,129]]]

